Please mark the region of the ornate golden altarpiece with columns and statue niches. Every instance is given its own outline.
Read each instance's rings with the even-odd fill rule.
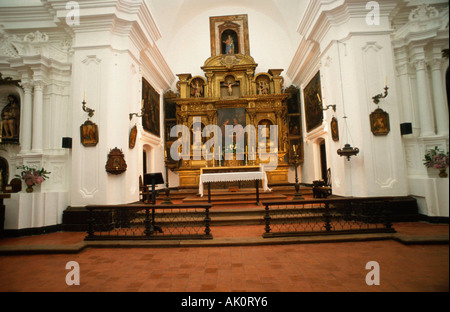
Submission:
[[[188,73],[178,74],[178,94],[175,95],[171,91],[166,93],[166,111],[173,105],[170,109],[171,119],[167,118],[169,116],[166,113],[166,149],[169,150],[173,140],[176,140],[168,137],[169,127],[175,123],[190,129],[193,144],[194,117],[201,118],[202,128],[206,125],[220,127],[225,119],[227,122],[239,120],[243,127],[253,125],[255,129],[258,129],[259,125],[267,128],[270,125],[277,125],[278,146],[275,150],[278,152],[278,166],[275,170],[267,171],[267,176],[269,184],[287,183],[289,159],[293,157],[290,151],[286,104],[291,94],[283,90],[283,77],[280,76],[282,69],[271,69],[267,73],[255,74],[258,64],[248,55],[246,20],[246,15],[210,18],[212,56],[201,67],[205,77],[192,77]],[[220,40],[217,40],[217,37]],[[234,46],[227,49],[225,45],[229,42],[226,43],[226,39],[233,37]],[[221,48],[217,47],[220,42],[223,43]],[[176,113],[173,110],[176,110]],[[173,118],[174,115],[176,119]],[[299,117],[298,122],[300,123]],[[202,138],[202,144],[206,140],[209,138]],[[247,149],[245,161],[235,158],[207,161],[204,157],[201,160],[194,160],[193,150],[191,145],[189,160],[180,160],[176,166],[172,166],[178,172],[180,187],[198,187],[200,173],[204,168],[215,167],[226,172],[226,170],[245,171],[246,168],[264,165],[258,155],[256,160],[247,160],[249,152]]]

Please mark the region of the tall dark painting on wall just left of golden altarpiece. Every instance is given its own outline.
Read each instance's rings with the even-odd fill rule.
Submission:
[[[159,93],[142,78],[142,105],[144,116],[142,116],[142,126],[156,136],[160,136],[160,118],[159,118]]]

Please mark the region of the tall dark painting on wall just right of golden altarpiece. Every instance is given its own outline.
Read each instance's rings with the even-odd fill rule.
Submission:
[[[306,131],[310,132],[319,127],[323,121],[320,71],[305,87],[303,95],[305,100]]]

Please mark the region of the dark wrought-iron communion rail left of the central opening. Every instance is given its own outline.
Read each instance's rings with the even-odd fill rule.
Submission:
[[[90,205],[85,240],[212,239],[209,209],[197,205]]]

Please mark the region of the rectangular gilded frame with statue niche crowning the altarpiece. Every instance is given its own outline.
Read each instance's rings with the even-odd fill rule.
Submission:
[[[250,55],[247,14],[210,17],[209,26],[211,56]]]

